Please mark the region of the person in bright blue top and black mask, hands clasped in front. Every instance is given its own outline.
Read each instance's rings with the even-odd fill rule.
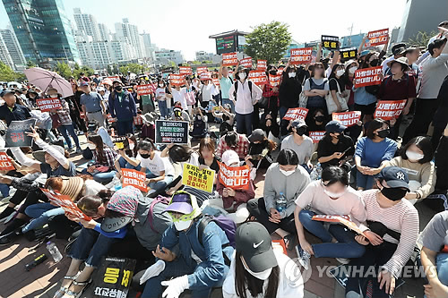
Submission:
[[[374,176],[386,166],[397,150],[397,142],[389,139],[389,125],[376,118],[367,126],[366,137],[358,140],[355,151],[358,190],[369,190],[374,184]]]

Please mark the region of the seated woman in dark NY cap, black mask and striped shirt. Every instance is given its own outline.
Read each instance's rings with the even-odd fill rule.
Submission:
[[[372,278],[372,296],[390,297],[396,279],[416,246],[418,211],[405,199],[409,192],[408,175],[398,166],[387,166],[375,183],[378,189],[361,192],[367,219],[366,224],[359,226],[363,234],[356,236],[355,240],[366,245],[366,252],[349,262],[349,267],[359,274],[349,277],[346,298],[366,297],[372,267],[375,273],[378,272]]]

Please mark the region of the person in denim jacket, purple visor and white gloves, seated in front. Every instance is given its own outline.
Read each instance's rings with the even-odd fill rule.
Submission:
[[[207,297],[212,286],[220,286],[228,272],[233,247],[226,233],[215,222],[204,227],[196,198],[187,192],[176,192],[166,209],[173,224],[162,234],[159,260],[146,270],[140,283],[146,282],[142,298],[177,298],[186,289],[194,297]],[[179,246],[179,254],[173,248]],[[167,286],[165,290],[162,286]]]

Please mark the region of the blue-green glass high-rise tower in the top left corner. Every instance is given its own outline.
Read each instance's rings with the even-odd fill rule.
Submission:
[[[62,0],[3,0],[26,60],[80,63]]]

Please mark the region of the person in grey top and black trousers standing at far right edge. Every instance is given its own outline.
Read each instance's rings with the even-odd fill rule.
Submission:
[[[426,135],[429,124],[433,120],[435,111],[439,106],[437,95],[444,78],[448,75],[448,47],[446,47],[446,36],[435,39],[427,47],[431,54],[422,64],[421,87],[418,92],[416,113],[403,135],[403,142],[418,135]]]

